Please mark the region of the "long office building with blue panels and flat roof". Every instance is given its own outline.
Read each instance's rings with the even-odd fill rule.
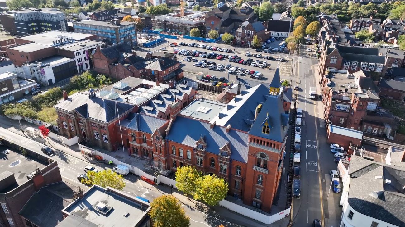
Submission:
[[[111,21],[77,21],[73,22],[75,32],[94,34],[99,41],[128,42],[132,47],[138,46],[136,40],[136,25],[134,22],[120,22],[118,19]]]

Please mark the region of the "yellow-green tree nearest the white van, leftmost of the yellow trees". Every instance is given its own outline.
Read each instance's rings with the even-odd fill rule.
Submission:
[[[111,170],[102,170],[100,172],[87,172],[88,179],[82,179],[81,183],[87,185],[100,185],[101,187],[112,187],[119,191],[124,190],[125,181],[121,174],[117,174]]]

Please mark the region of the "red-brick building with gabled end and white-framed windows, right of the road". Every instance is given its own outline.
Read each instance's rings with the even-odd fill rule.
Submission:
[[[343,69],[350,74],[359,70],[375,72],[373,73],[375,80],[384,76],[387,71],[387,67],[384,65],[386,56],[379,55],[378,48],[343,46],[324,42],[323,46],[320,46],[320,51],[321,56],[318,65],[320,83],[323,81],[327,69]]]

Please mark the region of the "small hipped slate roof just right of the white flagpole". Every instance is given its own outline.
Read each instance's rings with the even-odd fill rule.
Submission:
[[[155,118],[143,113],[136,113],[132,119],[128,119],[130,122],[125,125],[126,128],[146,132],[152,134],[156,128],[161,128],[168,120],[162,118]]]

